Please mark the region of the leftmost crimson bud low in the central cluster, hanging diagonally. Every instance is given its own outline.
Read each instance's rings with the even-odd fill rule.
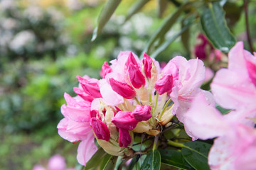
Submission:
[[[92,127],[92,130],[95,133],[97,139],[106,141],[110,140],[110,131],[107,129],[107,125],[102,123],[101,120],[97,118],[91,118],[90,126]]]

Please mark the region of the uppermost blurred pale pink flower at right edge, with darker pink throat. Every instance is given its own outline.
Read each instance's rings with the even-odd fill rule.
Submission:
[[[215,101],[223,108],[242,111],[240,120],[255,117],[255,75],[256,57],[238,42],[228,54],[228,69],[220,69],[210,86]]]

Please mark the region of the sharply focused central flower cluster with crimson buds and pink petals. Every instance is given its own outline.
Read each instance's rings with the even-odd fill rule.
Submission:
[[[142,60],[132,52],[120,52],[111,65],[103,64],[102,79],[77,77],[78,96],[65,94],[64,118],[58,133],[70,142],[81,141],[78,162],[85,165],[97,151],[97,143],[109,154],[132,154],[134,132],[158,135],[161,125],[184,114],[201,90],[205,67],[198,59],[174,57],[161,69],[146,53]]]

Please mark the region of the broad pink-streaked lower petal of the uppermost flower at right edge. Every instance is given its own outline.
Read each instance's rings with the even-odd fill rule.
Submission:
[[[255,86],[243,74],[220,69],[210,85],[216,102],[223,108],[239,108],[256,100]]]

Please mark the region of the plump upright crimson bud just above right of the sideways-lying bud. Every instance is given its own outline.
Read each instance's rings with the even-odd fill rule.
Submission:
[[[139,70],[139,67],[136,67],[134,64],[129,64],[128,67],[129,79],[136,89],[139,89],[141,86],[145,86],[145,78],[142,72]]]

